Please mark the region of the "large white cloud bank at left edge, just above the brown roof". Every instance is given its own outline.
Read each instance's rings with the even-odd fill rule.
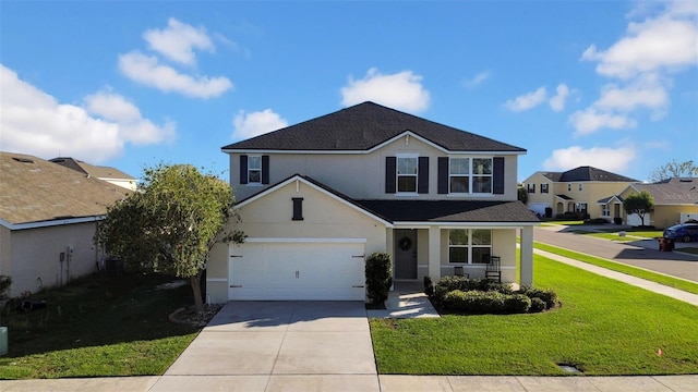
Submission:
[[[59,103],[3,65],[0,89],[3,150],[98,163],[120,156],[125,144],[157,144],[176,136],[174,123],[155,125],[133,103],[110,91],[85,97],[85,107]]]

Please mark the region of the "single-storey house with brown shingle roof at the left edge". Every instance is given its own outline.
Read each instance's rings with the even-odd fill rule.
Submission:
[[[10,296],[96,271],[107,206],[131,192],[22,154],[0,152],[0,274]]]

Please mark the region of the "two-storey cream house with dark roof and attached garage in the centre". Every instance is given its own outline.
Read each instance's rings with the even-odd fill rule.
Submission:
[[[222,151],[231,228],[248,238],[212,252],[213,303],[364,301],[374,252],[393,256],[395,280],[483,278],[500,256],[503,281],[532,282],[539,219],[517,200],[522,148],[364,102]]]

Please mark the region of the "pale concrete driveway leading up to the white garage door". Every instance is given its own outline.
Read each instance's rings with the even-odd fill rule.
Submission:
[[[230,302],[151,391],[377,391],[364,304]]]

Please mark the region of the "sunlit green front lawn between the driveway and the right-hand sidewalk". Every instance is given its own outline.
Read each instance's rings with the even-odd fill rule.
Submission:
[[[698,372],[698,308],[534,256],[562,307],[533,315],[371,319],[380,373],[561,376]],[[662,355],[658,355],[658,350]]]

